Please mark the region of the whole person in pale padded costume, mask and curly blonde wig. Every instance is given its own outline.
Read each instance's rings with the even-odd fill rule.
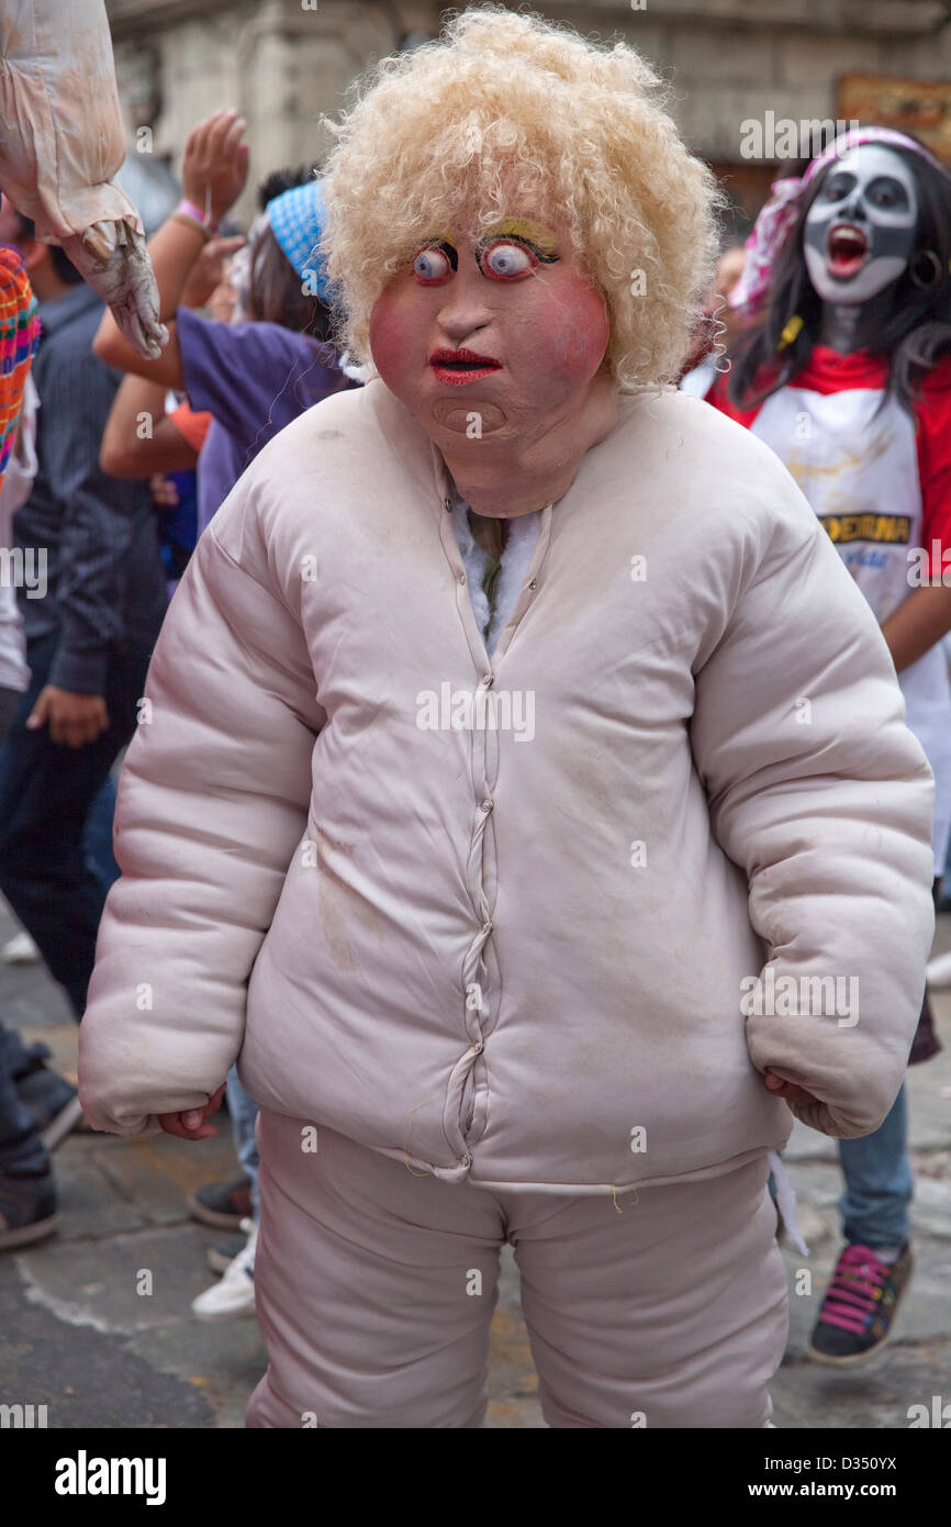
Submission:
[[[717,192],[637,52],[466,11],[324,192],[371,379],[176,594],[84,1107],[200,1139],[235,1060],[258,1099],[250,1426],[479,1426],[505,1241],[551,1426],[768,1426],[769,1154],[884,1119],[933,930],[888,651],[673,386]]]

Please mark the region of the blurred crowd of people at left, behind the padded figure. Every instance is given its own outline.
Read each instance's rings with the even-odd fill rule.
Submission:
[[[169,333],[156,357],[124,336],[63,249],[40,241],[9,199],[0,209],[17,299],[41,328],[9,441],[0,541],[41,548],[46,580],[43,599],[9,577],[0,588],[0,887],[23,924],[5,959],[43,959],[76,1020],[119,873],[114,776],[143,719],[168,600],[258,450],[322,397],[359,385],[330,341],[314,166],[272,171],[243,234],[230,209],[247,174],[244,119],[221,110],[198,122],[182,197],[147,229]],[[49,1153],[82,1115],[43,1044],[0,1026],[0,1054],[5,1249],[55,1229]],[[197,1219],[234,1232],[209,1254],[227,1275],[197,1301],[208,1318],[253,1313],[256,1107],[235,1073],[226,1107],[240,1173],[191,1199]]]

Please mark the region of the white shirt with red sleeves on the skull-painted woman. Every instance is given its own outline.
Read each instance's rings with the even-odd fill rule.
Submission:
[[[913,592],[908,570],[924,548],[927,576],[951,579],[951,357],[928,374],[911,417],[891,399],[878,412],[888,365],[867,350],[817,345],[786,386],[739,409],[717,377],[707,402],[759,435],[795,478],[843,562],[885,621]],[[951,684],[942,644],[899,675],[908,725],[936,776],[934,858],[951,829]]]

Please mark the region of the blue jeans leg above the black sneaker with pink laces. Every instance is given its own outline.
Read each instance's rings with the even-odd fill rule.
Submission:
[[[873,1135],[838,1142],[846,1191],[840,1199],[843,1231],[855,1246],[904,1246],[910,1235],[911,1162],[905,1087]]]

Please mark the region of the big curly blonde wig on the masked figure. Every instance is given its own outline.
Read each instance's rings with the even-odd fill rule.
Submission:
[[[717,250],[722,202],[624,43],[595,44],[504,6],[452,17],[438,41],[383,58],[356,87],[324,182],[322,253],[337,342],[372,370],[369,313],[437,229],[488,232],[548,211],[611,316],[621,391],[673,380]]]

